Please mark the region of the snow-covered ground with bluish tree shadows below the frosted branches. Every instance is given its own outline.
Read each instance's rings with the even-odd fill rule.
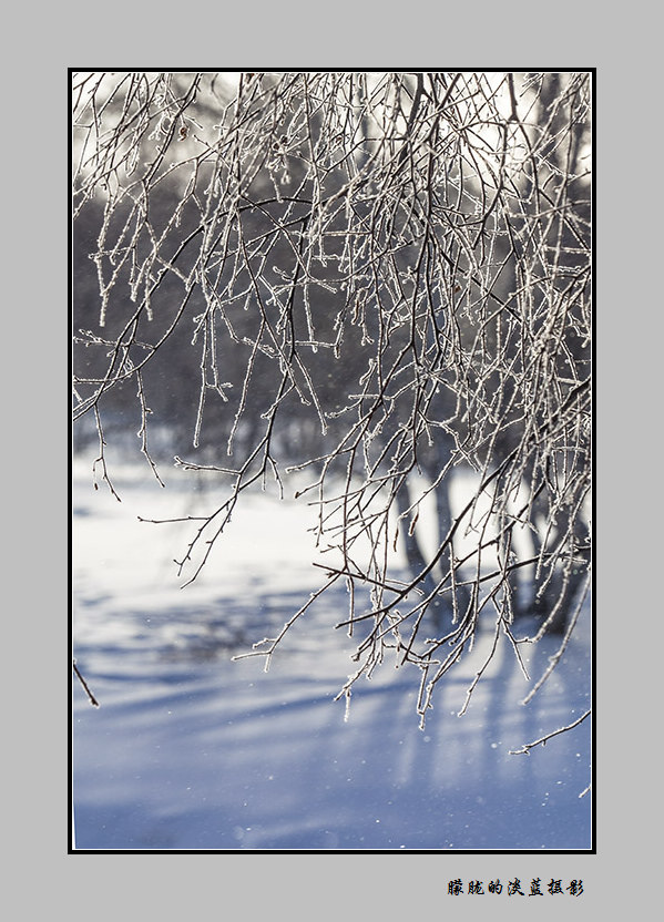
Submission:
[[[335,631],[345,591],[313,606],[268,673],[232,657],[319,586],[306,506],[251,496],[200,578],[180,588],[173,559],[188,525],[137,516],[200,514],[211,493],[161,490],[116,471],[119,503],[74,463],[72,580],[76,664],[73,801],[78,849],[585,850],[591,841],[591,726],[510,755],[589,707],[590,608],[535,697],[555,638],[529,646],[529,683],[499,652],[458,713],[490,637],[439,684],[423,730],[419,672],[387,659],[335,701],[354,641]],[[185,480],[181,474],[180,480]],[[523,628],[524,634],[532,631]],[[523,648],[523,646],[522,646]]]

